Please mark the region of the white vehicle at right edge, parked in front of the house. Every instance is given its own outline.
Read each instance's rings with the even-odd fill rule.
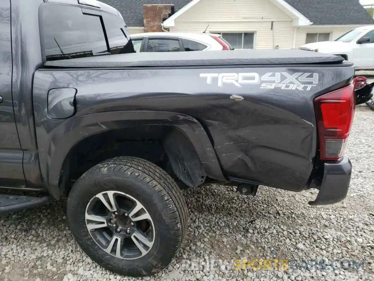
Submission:
[[[356,70],[374,70],[374,25],[358,27],[334,41],[309,43],[300,49],[341,55],[353,62]]]

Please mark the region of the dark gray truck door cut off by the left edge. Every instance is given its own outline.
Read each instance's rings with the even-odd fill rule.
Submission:
[[[0,1],[0,187],[25,186],[12,99],[10,0]]]

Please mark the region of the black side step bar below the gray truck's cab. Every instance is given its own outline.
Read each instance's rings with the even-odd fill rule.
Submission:
[[[0,215],[21,211],[49,203],[50,197],[19,196],[0,194]]]

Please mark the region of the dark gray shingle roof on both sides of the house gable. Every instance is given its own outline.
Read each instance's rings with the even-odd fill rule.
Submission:
[[[174,4],[175,12],[191,0],[101,0],[119,10],[129,27],[143,26],[144,4]],[[359,0],[285,0],[313,25],[374,24]]]

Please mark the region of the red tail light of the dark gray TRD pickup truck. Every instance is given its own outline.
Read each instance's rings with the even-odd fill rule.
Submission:
[[[355,88],[346,87],[313,101],[319,134],[320,159],[337,161],[344,153],[355,114]]]

